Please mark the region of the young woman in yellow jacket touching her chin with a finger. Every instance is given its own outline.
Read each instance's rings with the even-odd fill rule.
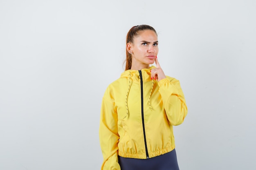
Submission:
[[[164,74],[157,53],[155,29],[133,26],[126,38],[126,71],[102,100],[101,170],[179,170],[173,126],[182,124],[187,107],[180,82]]]

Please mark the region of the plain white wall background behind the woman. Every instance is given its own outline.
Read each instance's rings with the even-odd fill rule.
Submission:
[[[181,170],[256,169],[255,0],[0,0],[0,170],[99,170],[101,99],[135,25],[188,106]]]

